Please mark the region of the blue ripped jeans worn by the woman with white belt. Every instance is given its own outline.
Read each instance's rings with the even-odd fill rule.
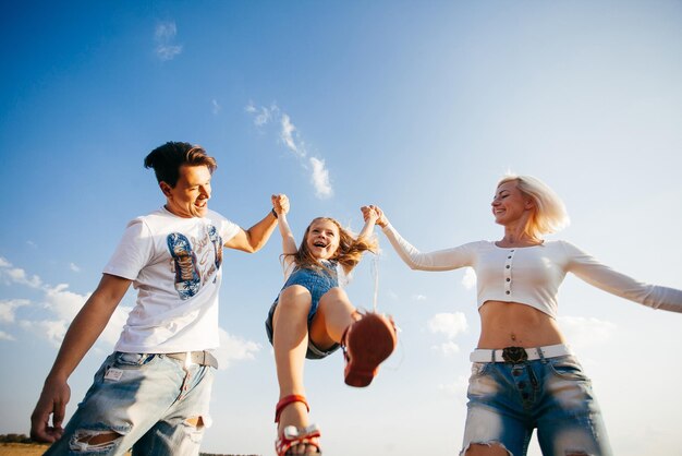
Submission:
[[[461,455],[471,444],[498,444],[525,456],[535,428],[544,455],[611,455],[592,383],[574,356],[474,362],[467,397]]]

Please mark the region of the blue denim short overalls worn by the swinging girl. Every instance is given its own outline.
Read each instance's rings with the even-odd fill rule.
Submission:
[[[308,329],[310,328],[310,323],[313,323],[313,319],[317,313],[317,308],[319,307],[319,300],[321,297],[329,291],[330,289],[339,286],[339,280],[337,277],[332,277],[326,269],[309,269],[306,267],[302,267],[300,269],[295,269],[287,279],[284,285],[282,286],[282,290],[292,285],[300,285],[304,287],[310,293],[310,310],[308,312]],[[281,292],[281,291],[280,291]],[[272,324],[272,320],[275,319],[275,309],[277,309],[277,303],[279,302],[279,295],[275,299],[275,302],[270,307],[270,311],[268,312],[268,316],[265,321],[265,331],[268,335],[268,340],[272,344],[272,337],[275,335],[275,327]],[[308,348],[305,353],[307,359],[322,359],[333,353],[339,349],[340,345],[334,344],[327,350],[322,350],[318,346],[316,346],[313,340],[308,338]]]

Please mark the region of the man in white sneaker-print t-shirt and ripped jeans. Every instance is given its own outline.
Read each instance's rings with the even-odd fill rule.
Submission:
[[[208,209],[217,164],[199,146],[169,142],[145,158],[166,205],[132,220],[101,281],[72,322],[31,417],[46,454],[198,455],[218,347],[222,248],[253,253],[269,239],[284,195],[243,230]],[[137,302],[114,352],[63,430],[73,370],[109,322],[131,283]],[[52,415],[52,425],[49,418]]]

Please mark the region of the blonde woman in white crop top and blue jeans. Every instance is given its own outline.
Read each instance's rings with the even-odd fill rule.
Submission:
[[[377,225],[413,269],[476,272],[480,315],[461,455],[526,454],[537,429],[545,455],[611,455],[589,379],[557,325],[557,292],[567,273],[619,297],[682,312],[682,291],[640,283],[577,247],[543,236],[568,224],[561,200],[540,180],[508,176],[492,199],[498,241],[422,253],[377,206]]]

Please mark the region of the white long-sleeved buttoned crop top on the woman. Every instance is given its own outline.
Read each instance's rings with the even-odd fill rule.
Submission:
[[[471,266],[476,272],[478,308],[486,301],[519,302],[557,317],[557,292],[571,272],[605,291],[653,309],[682,312],[682,290],[643,284],[599,263],[565,241],[500,248],[491,241],[422,253],[390,224],[383,232],[400,257],[419,271],[451,271]]]

